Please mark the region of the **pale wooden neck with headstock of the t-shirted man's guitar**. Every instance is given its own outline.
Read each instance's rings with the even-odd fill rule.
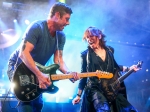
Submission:
[[[100,77],[100,78],[111,78],[112,74],[104,74],[104,73],[97,73],[97,72],[90,72],[90,73],[78,73],[78,76],[80,78],[84,77]],[[57,75],[51,75],[51,80],[63,80],[63,79],[70,79],[73,78],[72,74],[57,74]]]

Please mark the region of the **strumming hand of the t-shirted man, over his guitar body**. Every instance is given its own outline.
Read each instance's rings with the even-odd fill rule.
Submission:
[[[39,88],[41,89],[47,89],[47,87],[52,84],[49,75],[43,73],[40,76],[38,76],[38,81],[39,81]]]

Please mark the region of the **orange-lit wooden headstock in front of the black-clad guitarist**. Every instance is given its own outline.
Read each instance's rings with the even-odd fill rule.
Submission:
[[[109,72],[103,72],[103,71],[100,71],[100,70],[97,70],[96,71],[96,76],[101,79],[101,78],[105,78],[105,79],[110,79],[113,77],[113,74],[112,73],[109,73]]]

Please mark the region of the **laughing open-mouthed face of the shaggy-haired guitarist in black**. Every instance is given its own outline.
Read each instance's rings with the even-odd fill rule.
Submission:
[[[87,36],[86,40],[87,40],[89,46],[92,49],[98,48],[98,46],[99,46],[99,38],[97,36],[92,36],[92,35]]]

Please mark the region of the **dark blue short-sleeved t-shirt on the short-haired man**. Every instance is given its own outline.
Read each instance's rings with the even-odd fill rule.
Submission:
[[[66,37],[62,31],[57,31],[56,36],[52,37],[48,30],[47,21],[36,21],[25,31],[23,41],[28,41],[34,45],[31,52],[33,60],[45,65],[57,49],[63,50]],[[17,59],[17,65],[21,62],[18,58],[19,49],[21,48],[18,48],[10,56],[9,63],[12,66]]]

